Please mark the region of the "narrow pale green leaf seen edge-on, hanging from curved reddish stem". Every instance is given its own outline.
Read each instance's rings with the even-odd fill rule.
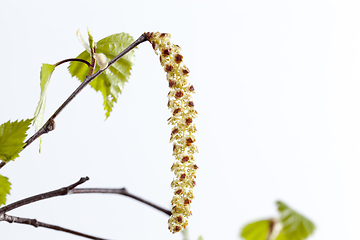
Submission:
[[[37,132],[43,125],[44,121],[44,112],[45,112],[45,105],[46,105],[46,92],[49,86],[50,77],[55,69],[55,65],[43,63],[41,66],[40,71],[40,100],[38,106],[36,107],[35,114],[34,114],[34,125],[35,125],[35,132]],[[40,137],[40,144],[39,144],[39,152],[41,149],[41,137]]]

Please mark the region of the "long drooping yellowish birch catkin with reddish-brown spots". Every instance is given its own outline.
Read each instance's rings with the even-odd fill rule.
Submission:
[[[195,89],[188,81],[190,70],[183,62],[180,47],[172,44],[170,37],[168,33],[147,33],[155,53],[160,56],[160,63],[166,72],[170,88],[168,108],[171,117],[168,123],[173,126],[170,142],[173,143],[175,162],[171,171],[175,176],[171,183],[174,196],[171,201],[173,208],[169,229],[172,233],[176,233],[186,228],[191,215],[190,203],[194,198],[193,188],[198,168],[194,157],[197,152],[194,136],[196,132],[194,119],[197,117],[197,112],[192,99]]]

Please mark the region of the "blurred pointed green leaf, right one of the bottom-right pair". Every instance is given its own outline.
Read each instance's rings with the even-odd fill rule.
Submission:
[[[280,201],[276,204],[283,224],[283,229],[276,240],[302,240],[314,232],[315,225],[309,219]]]

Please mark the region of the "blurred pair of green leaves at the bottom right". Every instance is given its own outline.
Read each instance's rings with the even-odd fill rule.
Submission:
[[[246,240],[303,240],[315,230],[307,218],[289,208],[283,202],[276,202],[280,219],[260,220],[246,225],[240,236]]]

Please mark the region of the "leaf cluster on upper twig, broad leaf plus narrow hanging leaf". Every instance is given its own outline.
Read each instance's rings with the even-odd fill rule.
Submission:
[[[91,75],[93,70],[103,69],[105,61],[103,58],[106,57],[107,61],[114,58],[117,54],[123,51],[128,45],[133,42],[133,38],[126,33],[119,33],[108,36],[101,39],[98,43],[94,42],[93,36],[88,30],[88,41],[86,43],[83,39],[80,31],[77,32],[81,44],[85,47],[85,51],[80,53],[77,59],[85,60],[89,65],[84,62],[71,61],[69,65],[69,72],[72,76],[76,76],[80,81],[84,81],[85,77]],[[100,55],[101,54],[101,55]],[[104,57],[103,57],[104,56]],[[71,60],[71,59],[70,59]],[[96,60],[102,61],[100,64],[96,64]],[[90,86],[96,91],[100,91],[104,98],[104,109],[106,111],[106,118],[110,116],[110,112],[114,107],[114,103],[117,102],[119,93],[122,92],[125,82],[130,77],[130,70],[135,61],[134,50],[131,50],[123,58],[111,65],[105,72],[94,79]],[[56,66],[60,65],[64,61],[57,64],[46,64],[44,63],[41,67],[40,72],[40,100],[34,114],[34,125],[35,131],[38,131],[43,125],[45,105],[46,105],[46,93],[50,83],[50,78],[54,72]],[[92,64],[90,64],[90,62]],[[100,66],[99,66],[100,65]],[[41,138],[39,144],[39,152],[41,151]]]

